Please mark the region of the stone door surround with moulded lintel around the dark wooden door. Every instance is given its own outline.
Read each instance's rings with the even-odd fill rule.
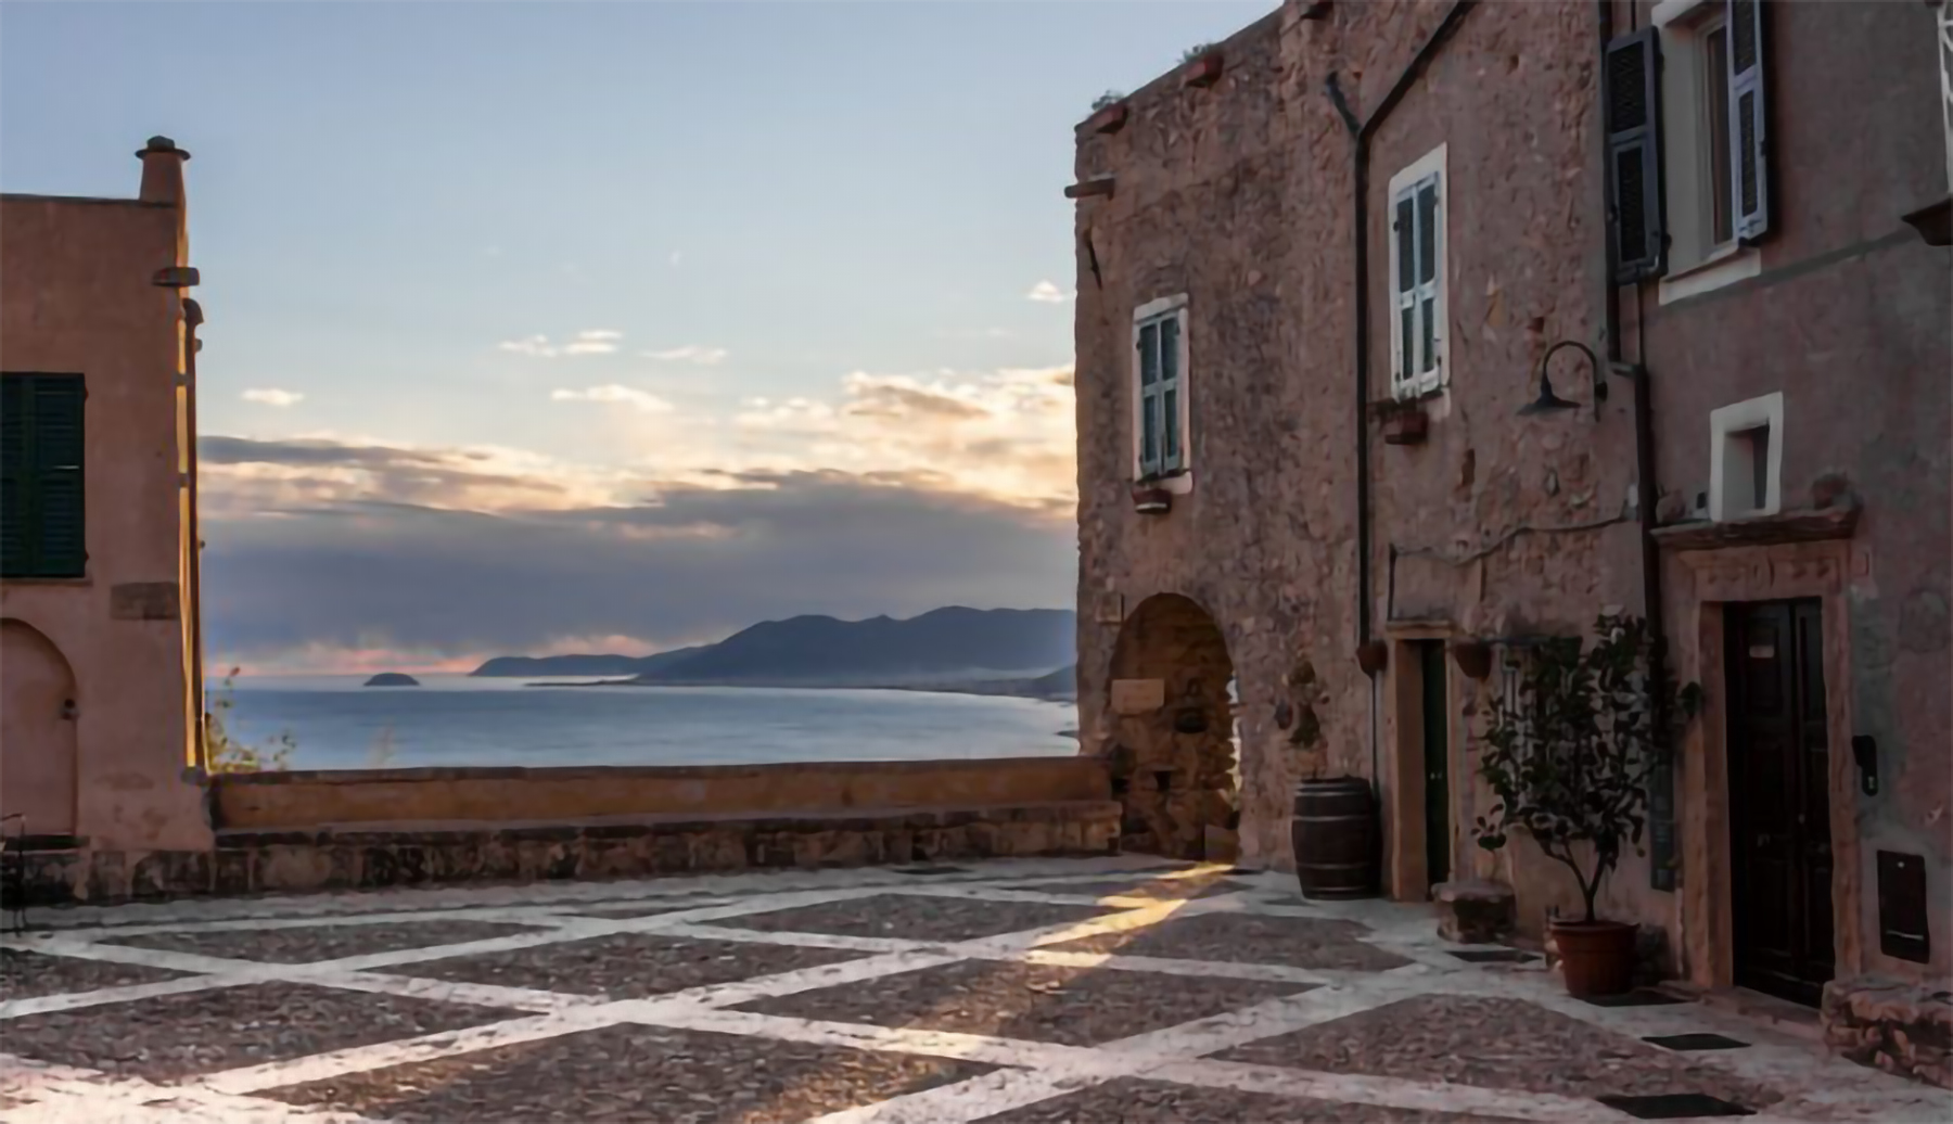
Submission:
[[[1724,607],[1816,599],[1824,622],[1824,728],[1830,742],[1832,954],[1836,978],[1865,970],[1857,767],[1851,761],[1851,644],[1846,585],[1869,578],[1871,554],[1846,539],[1680,550],[1689,583],[1676,630],[1678,677],[1703,685],[1703,710],[1682,747],[1682,886],[1678,925],[1689,982],[1734,987],[1736,935],[1728,841]]]

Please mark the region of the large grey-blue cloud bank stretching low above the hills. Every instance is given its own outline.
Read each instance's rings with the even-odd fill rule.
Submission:
[[[506,449],[207,437],[213,658],[467,663],[795,613],[1066,605],[1068,507],[928,472],[607,472]],[[818,574],[818,582],[809,582]]]

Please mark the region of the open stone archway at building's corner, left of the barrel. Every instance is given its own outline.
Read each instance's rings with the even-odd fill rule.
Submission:
[[[1189,597],[1143,601],[1111,658],[1113,796],[1119,847],[1232,861],[1240,829],[1234,663],[1215,619]]]

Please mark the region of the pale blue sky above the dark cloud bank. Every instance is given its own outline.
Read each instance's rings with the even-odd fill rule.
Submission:
[[[955,455],[855,449],[875,412],[850,404],[894,384],[996,414],[1021,392],[990,373],[1068,365],[1070,304],[1027,293],[1074,283],[1072,125],[1271,8],[10,2],[0,185],[129,195],[143,139],[193,152],[211,435],[633,476],[602,503],[721,451],[941,470]],[[580,332],[621,336],[561,353]],[[535,336],[559,353],[498,347]],[[307,496],[404,500],[361,488]],[[430,505],[523,507],[477,496]],[[1068,595],[1025,582],[1023,603]]]

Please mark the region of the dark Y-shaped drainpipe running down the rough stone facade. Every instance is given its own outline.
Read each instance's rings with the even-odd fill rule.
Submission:
[[[1369,140],[1377,135],[1377,127],[1383,125],[1385,117],[1396,109],[1396,103],[1404,100],[1404,94],[1416,84],[1424,70],[1443,49],[1445,41],[1457,33],[1465,16],[1476,6],[1476,0],[1457,0],[1451,10],[1445,12],[1437,29],[1432,37],[1424,41],[1418,55],[1404,66],[1404,72],[1396,76],[1391,92],[1385,94],[1377,111],[1369,115],[1367,121],[1357,123],[1355,113],[1350,109],[1348,98],[1344,98],[1342,84],[1332,72],[1324,88],[1328,90],[1330,101],[1336,105],[1336,113],[1342,117],[1344,127],[1350,129],[1350,139],[1355,142],[1353,164],[1355,164],[1355,632],[1357,644],[1369,644],[1371,638],[1371,564],[1369,564],[1369,544],[1371,544],[1371,511],[1369,511]],[[1381,745],[1377,736],[1377,681],[1371,679],[1369,689],[1369,784],[1383,796],[1381,783]]]

